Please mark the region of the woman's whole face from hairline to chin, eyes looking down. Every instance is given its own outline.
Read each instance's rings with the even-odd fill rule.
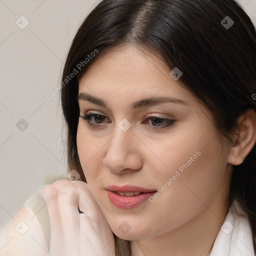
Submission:
[[[80,115],[94,114],[79,118],[80,163],[122,239],[162,235],[226,202],[229,150],[221,152],[209,111],[169,71],[153,55],[123,47],[79,80]]]

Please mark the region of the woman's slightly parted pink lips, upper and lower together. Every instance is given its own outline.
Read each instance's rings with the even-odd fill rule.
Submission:
[[[110,185],[105,188],[107,190],[108,198],[110,202],[117,208],[120,209],[131,209],[142,202],[147,200],[151,195],[153,195],[156,190],[152,189],[145,189],[138,186],[132,185],[124,185],[124,186],[117,186],[117,185]],[[119,195],[116,192],[140,192],[138,195]]]

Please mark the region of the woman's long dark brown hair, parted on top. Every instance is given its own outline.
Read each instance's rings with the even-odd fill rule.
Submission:
[[[231,27],[221,22],[226,16]],[[210,110],[222,138],[232,142],[237,118],[246,109],[256,111],[256,31],[235,0],[102,0],[75,34],[62,74],[68,170],[78,171],[81,180],[86,182],[76,147],[78,80],[103,52],[125,44],[155,52],[170,70],[178,67],[182,86]],[[98,53],[85,61],[95,49]],[[74,70],[78,74],[65,80]],[[236,199],[247,214],[256,251],[255,161],[254,145],[233,166],[229,203]],[[129,255],[129,243],[115,238],[116,255]]]

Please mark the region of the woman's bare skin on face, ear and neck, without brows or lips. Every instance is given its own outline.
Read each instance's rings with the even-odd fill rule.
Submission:
[[[176,256],[204,256],[228,209],[231,164],[240,164],[255,143],[256,118],[253,111],[241,118],[242,133],[233,137],[237,144],[221,151],[210,112],[169,71],[163,61],[132,46],[98,58],[80,78],[79,93],[98,97],[108,107],[79,100],[80,115],[89,111],[106,118],[91,117],[95,127],[79,118],[77,150],[92,194],[112,231],[132,240],[132,255],[171,251]],[[187,105],[130,106],[157,96],[178,98]],[[176,121],[160,128],[152,119],[144,120],[150,113]],[[126,131],[118,126],[123,118],[131,124]],[[111,184],[161,189],[198,151],[200,155],[153,202],[118,209],[109,201],[104,188]],[[130,228],[126,233],[118,228],[123,221]]]

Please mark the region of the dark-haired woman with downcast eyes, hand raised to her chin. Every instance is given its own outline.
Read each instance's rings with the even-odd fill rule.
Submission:
[[[62,74],[73,181],[26,202],[5,255],[254,255],[255,59],[234,0],[101,1]]]

